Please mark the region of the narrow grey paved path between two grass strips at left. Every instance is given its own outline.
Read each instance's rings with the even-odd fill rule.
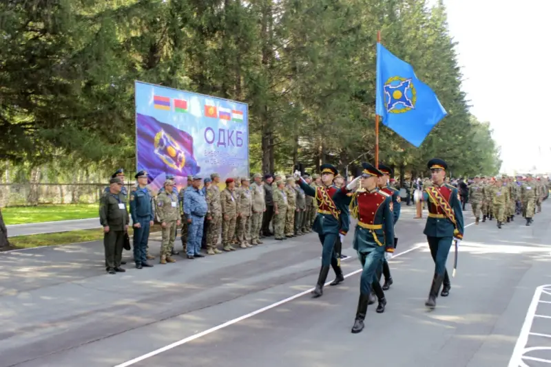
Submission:
[[[74,230],[91,230],[99,228],[99,218],[74,219],[72,221],[54,221],[43,223],[12,224],[6,225],[8,237],[27,236],[30,234],[67,232]]]

